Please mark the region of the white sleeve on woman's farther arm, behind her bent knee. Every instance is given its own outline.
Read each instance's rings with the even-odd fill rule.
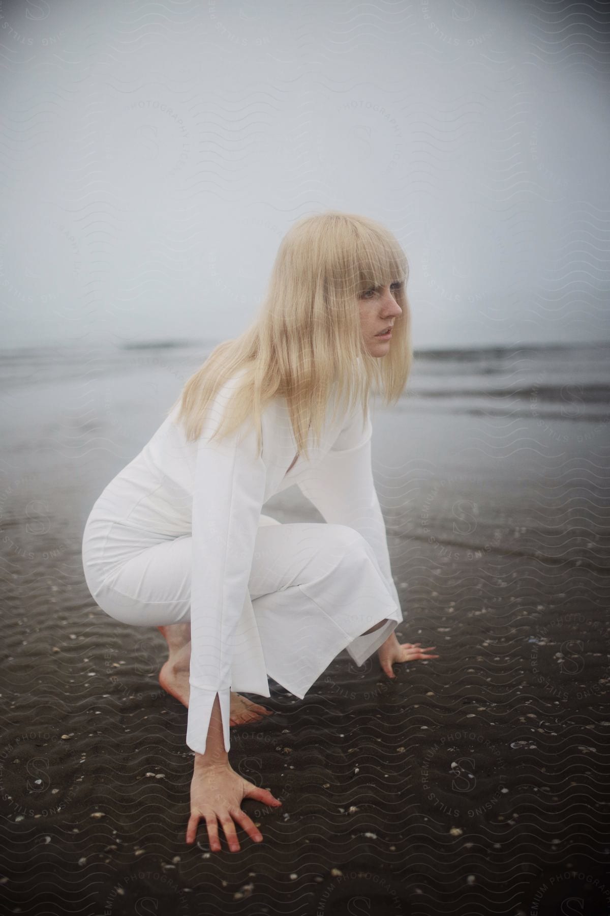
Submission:
[[[401,602],[391,574],[385,522],[373,482],[370,415],[364,430],[362,426],[362,409],[358,408],[330,451],[298,485],[326,522],[348,525],[369,542],[388,591],[398,605],[395,619],[400,623],[403,619]]]

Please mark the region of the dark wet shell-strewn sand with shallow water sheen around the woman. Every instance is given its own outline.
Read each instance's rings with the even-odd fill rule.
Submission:
[[[248,694],[274,714],[231,728],[231,763],[284,804],[244,802],[263,843],[209,854],[203,827],[184,842],[164,640],[105,616],[80,567],[92,502],[188,371],[103,365],[44,387],[31,368],[6,398],[0,912],[610,912],[607,423],[557,414],[540,385],[515,409],[426,397],[423,376],[378,409],[399,638],[440,658],[389,682],[342,653],[304,700]],[[295,488],[266,511],[319,520]]]

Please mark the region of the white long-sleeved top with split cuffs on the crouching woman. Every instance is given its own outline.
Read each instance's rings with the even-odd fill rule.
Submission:
[[[370,419],[362,409],[331,422],[329,400],[319,444],[309,460],[298,456],[284,398],[262,412],[262,454],[245,425],[209,442],[241,373],[221,387],[197,442],[177,426],[177,407],[134,460],[106,487],[93,512],[155,535],[192,535],[191,660],[187,746],[203,754],[212,706],[219,694],[224,747],[230,749],[230,691],[270,696],[248,580],[263,504],[296,484],[326,522],[348,525],[369,542],[389,593],[390,628],[402,620],[391,575],[380,503],[373,483]],[[109,509],[112,507],[112,512]],[[387,638],[386,627],[354,639],[347,649],[357,664]],[[372,648],[371,648],[372,647]],[[300,694],[297,694],[300,695]]]

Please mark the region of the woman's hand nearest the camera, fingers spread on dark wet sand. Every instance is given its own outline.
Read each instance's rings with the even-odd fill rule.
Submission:
[[[244,798],[256,799],[262,804],[278,807],[282,804],[270,791],[259,789],[244,780],[230,763],[199,764],[197,759],[190,783],[190,818],[187,824],[187,843],[195,843],[198,823],[204,818],[208,827],[209,848],[221,849],[218,822],[221,823],[231,852],[239,852],[235,824],[239,823],[255,843],[261,843],[262,834],[246,812],[241,811]]]

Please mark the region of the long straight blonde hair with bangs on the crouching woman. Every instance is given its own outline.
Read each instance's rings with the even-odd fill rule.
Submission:
[[[336,409],[340,402],[340,409],[351,411],[361,402],[364,428],[371,388],[390,406],[411,372],[408,269],[394,235],[366,216],[329,210],[296,222],[280,243],[258,316],[235,340],[212,350],[170,409],[180,404],[176,421],[187,441],[198,440],[209,403],[239,370],[230,409],[212,439],[250,420],[260,453],[262,411],[281,397],[297,451],[306,459],[309,429],[319,442],[335,389]],[[389,352],[371,356],[360,333],[359,295],[400,280],[396,300],[402,314],[394,322]]]

